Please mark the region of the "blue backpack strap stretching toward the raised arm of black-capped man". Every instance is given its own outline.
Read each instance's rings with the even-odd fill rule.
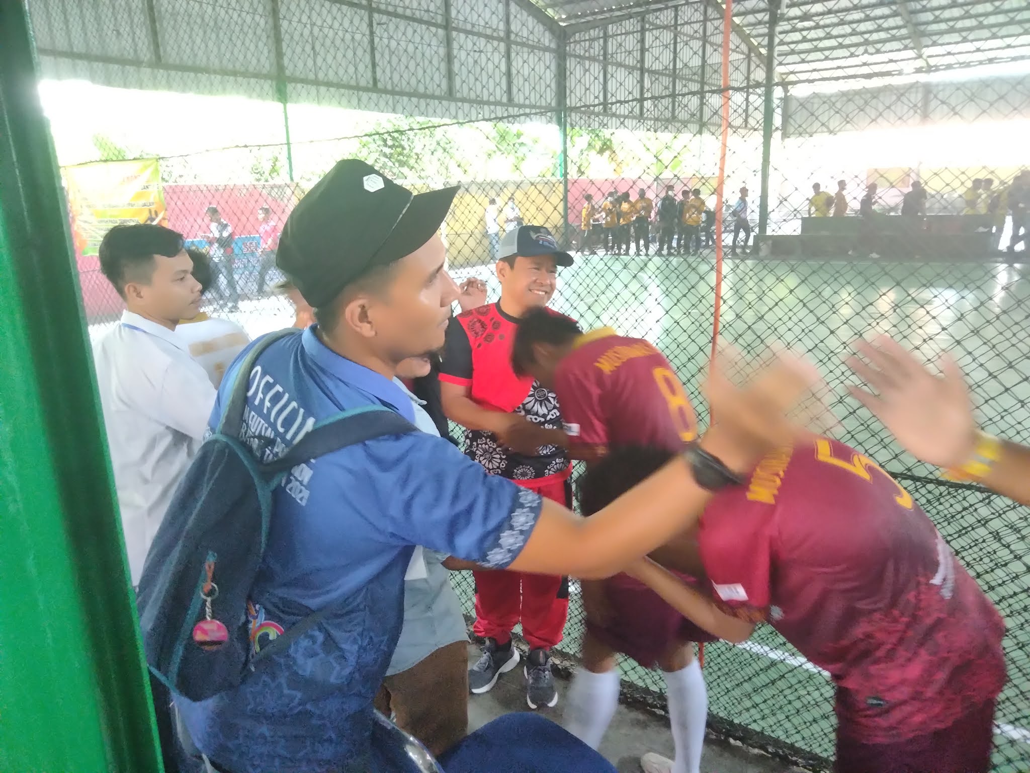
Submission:
[[[383,435],[405,435],[417,431],[415,425],[383,405],[365,405],[319,422],[285,456],[264,465],[262,469],[269,473],[285,472],[348,445],[357,445]]]

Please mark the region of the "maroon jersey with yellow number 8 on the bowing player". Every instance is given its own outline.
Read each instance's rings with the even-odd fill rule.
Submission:
[[[697,435],[693,407],[668,360],[648,341],[611,328],[579,338],[554,373],[554,393],[576,445],[679,450]]]

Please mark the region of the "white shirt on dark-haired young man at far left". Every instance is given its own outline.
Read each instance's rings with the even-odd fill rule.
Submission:
[[[215,390],[173,331],[126,311],[93,354],[132,582],[204,434]]]

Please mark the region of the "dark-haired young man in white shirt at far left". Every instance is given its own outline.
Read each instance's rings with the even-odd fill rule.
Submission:
[[[100,267],[126,302],[94,350],[132,582],[175,486],[207,431],[215,390],[176,335],[197,315],[200,283],[182,236],[162,226],[115,226]]]

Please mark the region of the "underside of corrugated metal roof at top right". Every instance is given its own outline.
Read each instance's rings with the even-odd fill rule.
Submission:
[[[560,24],[675,5],[666,0],[534,0]],[[1028,0],[784,0],[777,72],[788,80],[853,78],[1030,60]],[[768,0],[736,0],[739,31],[764,51]]]

